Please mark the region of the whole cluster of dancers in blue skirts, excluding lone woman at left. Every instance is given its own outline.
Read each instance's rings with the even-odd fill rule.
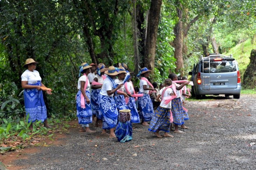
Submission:
[[[169,74],[168,79],[164,81],[164,87],[156,97],[160,105],[154,112],[150,92],[155,89],[147,79],[150,71],[144,67],[136,75],[140,82],[139,91],[135,93],[131,81],[133,73],[128,71],[126,64],[119,63],[117,67],[107,68],[102,63],[82,63],[79,71],[81,76],[78,80],[79,91],[76,94],[76,116],[80,131],[93,132],[89,124],[95,117],[95,126],[102,127],[101,134],[116,137],[120,142],[132,140],[132,123],[141,122],[142,125],[149,126],[148,130],[154,132],[158,138],[162,138],[159,131],[163,131],[165,137],[173,137],[168,134],[171,123],[175,126],[174,133],[183,132],[178,126],[188,128],[184,125],[184,120],[188,120],[189,117],[182,104],[181,91],[189,81],[177,81],[176,74]],[[126,74],[130,75],[129,79],[123,82]],[[121,110],[130,110],[130,120],[119,121]]]

